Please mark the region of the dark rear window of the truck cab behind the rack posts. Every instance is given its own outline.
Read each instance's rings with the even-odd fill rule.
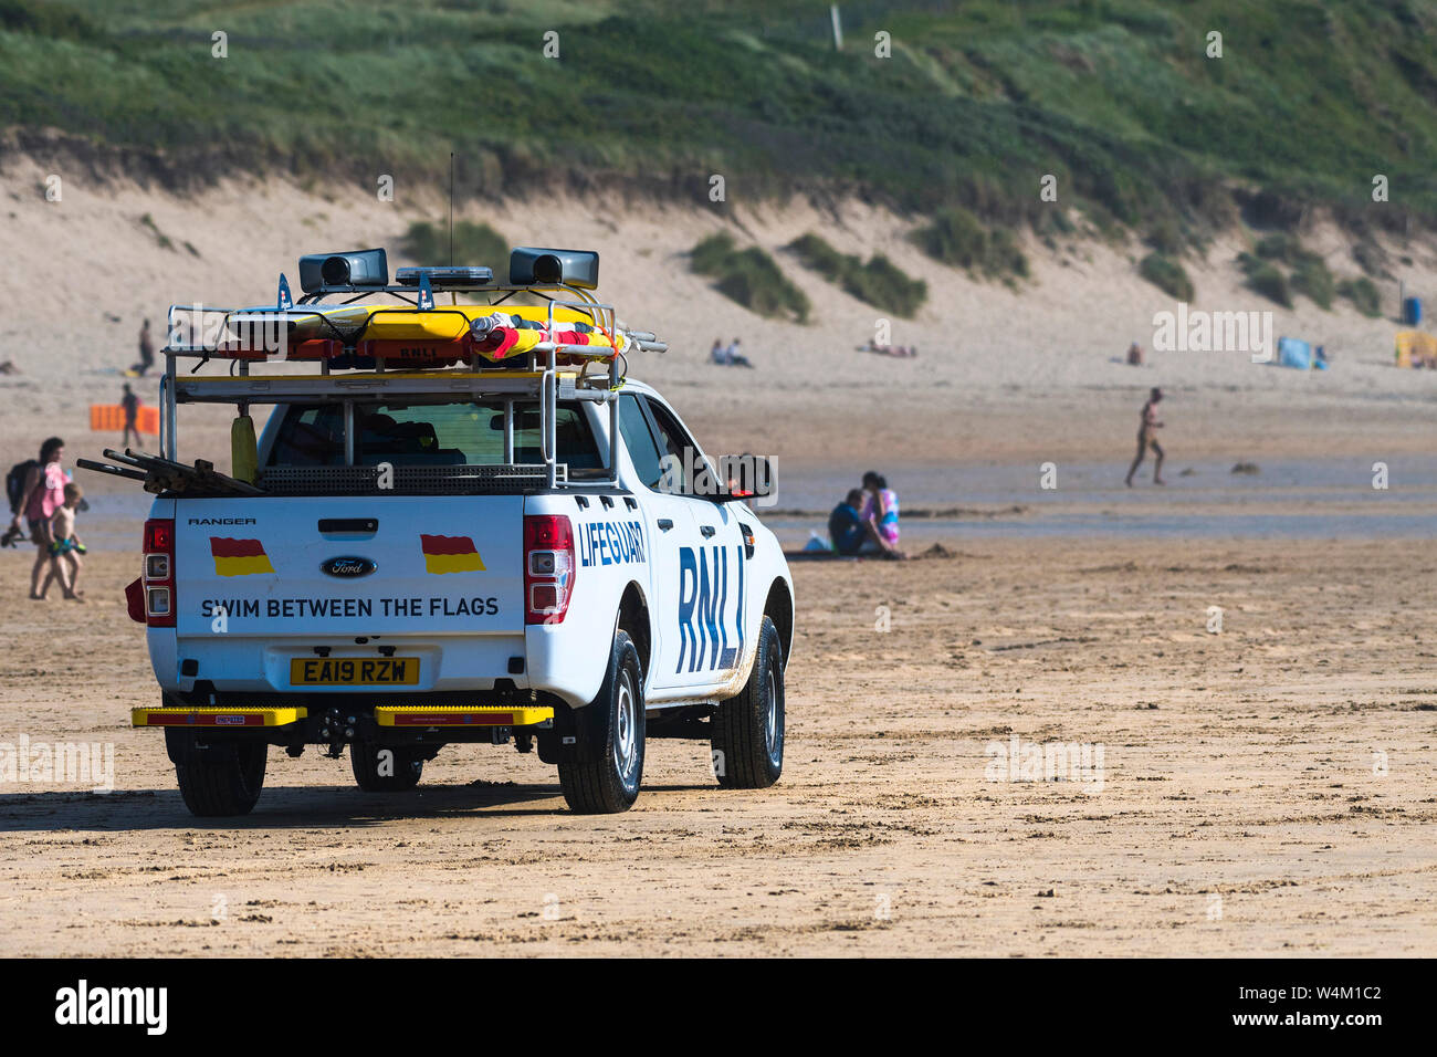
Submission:
[[[343,466],[341,404],[289,404],[267,466]],[[559,404],[558,462],[570,470],[604,469],[578,404]],[[499,466],[504,463],[503,403],[355,404],[355,465]],[[514,462],[542,463],[539,406],[514,404]]]

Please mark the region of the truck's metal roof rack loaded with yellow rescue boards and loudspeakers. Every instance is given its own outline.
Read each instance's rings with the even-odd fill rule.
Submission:
[[[161,349],[165,357],[165,372],[160,383],[160,450],[170,473],[178,473],[174,470],[180,465],[175,426],[177,408],[184,403],[233,403],[240,407],[250,403],[342,403],[346,434],[345,465],[352,467],[354,404],[361,395],[381,393],[410,400],[440,401],[470,394],[503,400],[507,466],[502,469],[513,470],[512,477],[537,477],[540,463],[513,463],[514,404],[520,400],[537,400],[545,486],[549,489],[579,483],[585,488],[618,486],[618,394],[625,381],[619,364],[622,361],[627,367],[627,354],[631,351],[665,352],[668,345],[650,331],[621,324],[612,305],[599,302],[589,289],[585,289],[593,288],[598,282],[598,253],[517,247],[510,257],[507,283],[496,283],[493,272],[487,267],[405,267],[399,269],[398,282],[389,283],[384,250],[356,250],[302,257],[300,279],[305,293],[297,303],[290,295],[287,279],[282,275],[273,308],[170,306],[167,314],[170,339]],[[435,305],[435,292],[450,293],[454,306]],[[542,298],[547,302],[543,318],[545,339],[516,357],[513,367],[507,361],[500,364],[483,361],[476,351],[476,335],[487,334],[487,326],[479,326],[481,318],[471,321],[460,311],[457,301],[460,293],[500,295],[489,308],[504,303],[516,293]],[[328,306],[329,311],[319,309],[325,298],[339,295],[348,295],[349,299],[338,306]],[[374,308],[372,303],[358,303],[369,295],[391,295],[404,305]],[[355,306],[355,312],[343,314],[343,308],[351,305]],[[576,326],[572,321],[558,319],[559,309],[588,316],[591,321],[588,329],[601,332],[609,345],[556,341],[555,335],[566,334],[562,329],[565,325]],[[445,361],[445,367],[415,370],[412,364],[405,364],[399,370],[387,370],[382,355],[372,357],[372,361],[366,358],[362,351],[378,344],[366,338],[366,332],[375,318],[382,318],[387,312],[434,312],[458,316],[463,321],[460,332],[454,335],[453,347],[444,349],[447,355],[440,357]],[[274,360],[267,344],[254,341],[254,332],[266,328],[279,338],[273,342],[277,347],[273,351],[279,352]],[[319,374],[256,372],[253,370],[256,365],[289,360],[292,332],[313,335],[312,339],[319,342],[318,352],[310,357],[318,362]],[[606,357],[595,355],[605,348]],[[188,358],[198,358],[200,362],[181,374],[178,362]],[[197,375],[200,368],[214,358],[230,362],[231,374]],[[575,368],[562,365],[560,358],[583,358],[588,362]],[[605,360],[606,371],[589,370],[591,364]],[[558,462],[559,400],[608,404],[608,479],[585,476],[582,482],[570,480],[568,467]],[[134,473],[137,467],[135,463],[129,463],[125,469]],[[259,483],[260,488],[256,490],[263,495],[264,482]]]

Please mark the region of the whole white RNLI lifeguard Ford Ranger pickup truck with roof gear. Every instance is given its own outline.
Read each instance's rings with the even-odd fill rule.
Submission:
[[[89,463],[157,493],[129,601],[162,700],[132,722],[164,729],[194,814],[249,813],[270,746],[348,746],[368,791],[414,788],[445,745],[537,746],[579,813],[627,810],[655,736],[708,741],[723,787],[777,781],[795,620],[779,544],[743,493],[698,486],[693,467],[717,465],[619,374],[624,357],[599,374],[565,367],[581,362],[556,337],[565,312],[609,312],[628,354],[662,348],[586,293],[596,255],[537,256],[536,276],[547,252],[520,253],[504,286],[480,269],[421,278],[425,292],[553,296],[533,309],[546,341],[514,364],[415,370],[411,345],[402,370],[384,370],[385,349],[359,338],[322,352],[372,352],[379,370],[259,374],[251,357],[216,377],[175,370],[224,361],[216,342],[172,338],[162,456]],[[308,303],[414,292],[387,269],[368,285],[335,269],[306,285]],[[233,324],[253,309],[214,311]],[[237,407],[234,477],[177,460],[175,408],[194,401]],[[274,410],[246,453],[250,404]]]

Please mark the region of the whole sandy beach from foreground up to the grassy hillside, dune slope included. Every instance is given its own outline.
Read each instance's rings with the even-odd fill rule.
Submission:
[[[4,170],[0,233],[27,250],[0,259],[26,290],[0,319],[0,360],[20,370],[0,377],[10,462],[52,433],[68,466],[115,444],[86,408],[118,400],[139,321],[162,326],[170,302],[267,302],[300,253],[392,244],[443,214],[433,194],[280,183],[172,197],[75,178],[53,204],[33,193],[45,171]],[[1174,308],[1138,278],[1137,244],[1030,246],[1033,275],[1010,289],[927,262],[910,220],[859,204],[461,213],[514,243],[601,250],[601,293],[671,344],[632,372],[710,453],[779,460],[786,545],[877,467],[915,511],[956,511],[905,526],[915,552],[947,557],[795,565],[773,790],[720,791],[704,745],[658,741],[635,810],[581,818],[512,748],[451,746],[395,797],[359,792],[346,761],[272,749],[256,813],[200,825],[161,739],[128,728],[157,695],[121,594],[144,500],[80,472],[80,532],[101,541],[88,604],[27,603],[33,552],[0,551],[0,742],[114,745],[115,791],[0,784],[0,955],[1437,949],[1437,372],[1390,365],[1397,324],[1276,309],[1240,286],[1240,246],[1217,243],[1190,267],[1194,306],[1272,309],[1332,370],[1242,352],[1131,368],[1128,342],[1151,347],[1152,315]],[[690,273],[687,250],[724,226],[775,252],[813,324],[762,321]],[[809,230],[928,279],[927,306],[892,322],[918,358],[858,351],[878,314],[782,250]],[[1329,234],[1309,242],[1352,270]],[[1430,250],[1394,252],[1437,280]],[[736,335],[756,370],[707,364]],[[1128,493],[1151,385],[1170,397],[1174,483]],[[154,403],[152,378],[141,395]],[[180,454],[226,467],[224,414],[182,408]],[[1239,460],[1262,472],[1230,476]],[[1371,485],[1378,462],[1390,490]],[[1101,771],[1015,781],[996,762],[1015,745],[1101,749]]]

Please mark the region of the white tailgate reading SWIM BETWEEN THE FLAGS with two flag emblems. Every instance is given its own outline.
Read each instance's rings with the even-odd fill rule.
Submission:
[[[522,561],[522,496],[181,499],[177,634],[523,634]]]

